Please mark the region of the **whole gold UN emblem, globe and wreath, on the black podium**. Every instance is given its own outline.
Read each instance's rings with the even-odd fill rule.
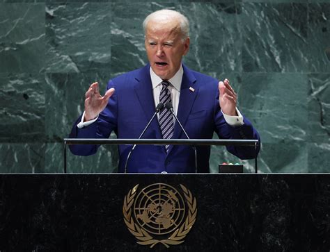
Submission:
[[[138,190],[129,190],[123,204],[124,221],[141,245],[157,243],[177,245],[196,221],[197,203],[191,192],[181,185],[180,194],[171,185],[157,183]]]

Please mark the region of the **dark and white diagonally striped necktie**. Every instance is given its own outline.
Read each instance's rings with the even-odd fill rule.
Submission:
[[[168,85],[170,83],[168,81],[162,81],[162,91],[160,92],[159,102],[161,103],[172,103],[171,93],[168,90]],[[167,110],[166,108],[162,110],[159,114],[159,126],[160,130],[162,131],[163,139],[170,139],[173,136],[173,129],[174,129],[174,121],[172,113]],[[169,145],[165,146],[166,152],[168,152]]]

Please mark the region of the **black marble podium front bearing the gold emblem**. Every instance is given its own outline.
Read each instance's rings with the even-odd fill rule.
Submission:
[[[137,201],[154,184],[186,199],[183,185],[196,212],[168,248],[138,244],[126,224],[132,189]],[[1,174],[0,251],[329,251],[329,185],[329,174]]]

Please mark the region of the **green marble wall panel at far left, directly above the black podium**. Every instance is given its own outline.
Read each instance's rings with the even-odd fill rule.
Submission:
[[[1,174],[44,172],[45,143],[0,144]]]

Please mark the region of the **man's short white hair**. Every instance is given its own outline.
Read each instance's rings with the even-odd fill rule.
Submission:
[[[155,12],[152,12],[143,21],[142,25],[143,25],[144,33],[146,34],[147,24],[151,20],[153,20],[153,19],[166,20],[169,18],[178,18],[179,23],[180,23],[180,31],[182,33],[182,40],[187,39],[187,37],[189,37],[189,21],[188,21],[187,17],[185,17],[180,12],[175,11],[175,10],[163,9],[163,10],[157,10]]]

